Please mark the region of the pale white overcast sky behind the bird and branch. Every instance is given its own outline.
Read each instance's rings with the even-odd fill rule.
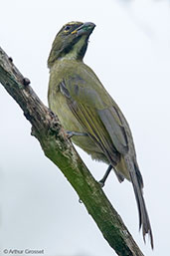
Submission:
[[[31,80],[46,105],[47,58],[56,33],[69,21],[96,24],[85,63],[117,102],[132,129],[153,228],[153,252],[138,232],[132,185],[127,181],[119,184],[112,173],[104,191],[144,255],[167,255],[169,1],[1,1],[0,46]],[[115,255],[62,172],[30,135],[30,124],[2,87],[0,103],[0,255],[5,255],[4,249],[27,248],[44,249],[46,256]],[[99,179],[106,165],[78,150]]]

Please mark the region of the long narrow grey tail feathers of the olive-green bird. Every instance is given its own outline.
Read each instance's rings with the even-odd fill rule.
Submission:
[[[131,164],[130,164],[131,165]],[[142,188],[143,180],[138,167],[133,163],[134,168],[130,168],[129,174],[131,182],[134,189],[135,198],[137,201],[138,213],[139,213],[139,229],[142,227],[143,240],[145,242],[145,235],[148,234],[150,237],[151,247],[153,249],[153,235],[151,230],[151,225],[149,221],[149,216],[146,210],[146,205],[144,202]]]

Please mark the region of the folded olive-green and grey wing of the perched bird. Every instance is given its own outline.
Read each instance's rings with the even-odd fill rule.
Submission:
[[[92,80],[91,83],[93,82]],[[70,77],[60,84],[60,90],[86,132],[109,159],[116,163],[117,151],[121,154],[128,151],[125,129],[104,88],[99,85],[93,89],[89,84],[89,79],[86,82],[79,76]]]

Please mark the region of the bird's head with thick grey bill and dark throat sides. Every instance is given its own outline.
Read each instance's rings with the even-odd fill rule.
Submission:
[[[62,58],[83,60],[94,27],[91,22],[70,22],[63,26],[53,42],[48,67],[52,68],[55,61]]]

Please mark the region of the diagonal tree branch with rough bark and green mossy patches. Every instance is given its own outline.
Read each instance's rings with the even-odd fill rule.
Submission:
[[[39,140],[45,155],[64,173],[84,202],[108,244],[121,256],[143,256],[120,216],[114,210],[99,184],[56,117],[37,97],[28,79],[14,66],[0,48],[0,83],[18,103],[32,125],[32,135]]]

